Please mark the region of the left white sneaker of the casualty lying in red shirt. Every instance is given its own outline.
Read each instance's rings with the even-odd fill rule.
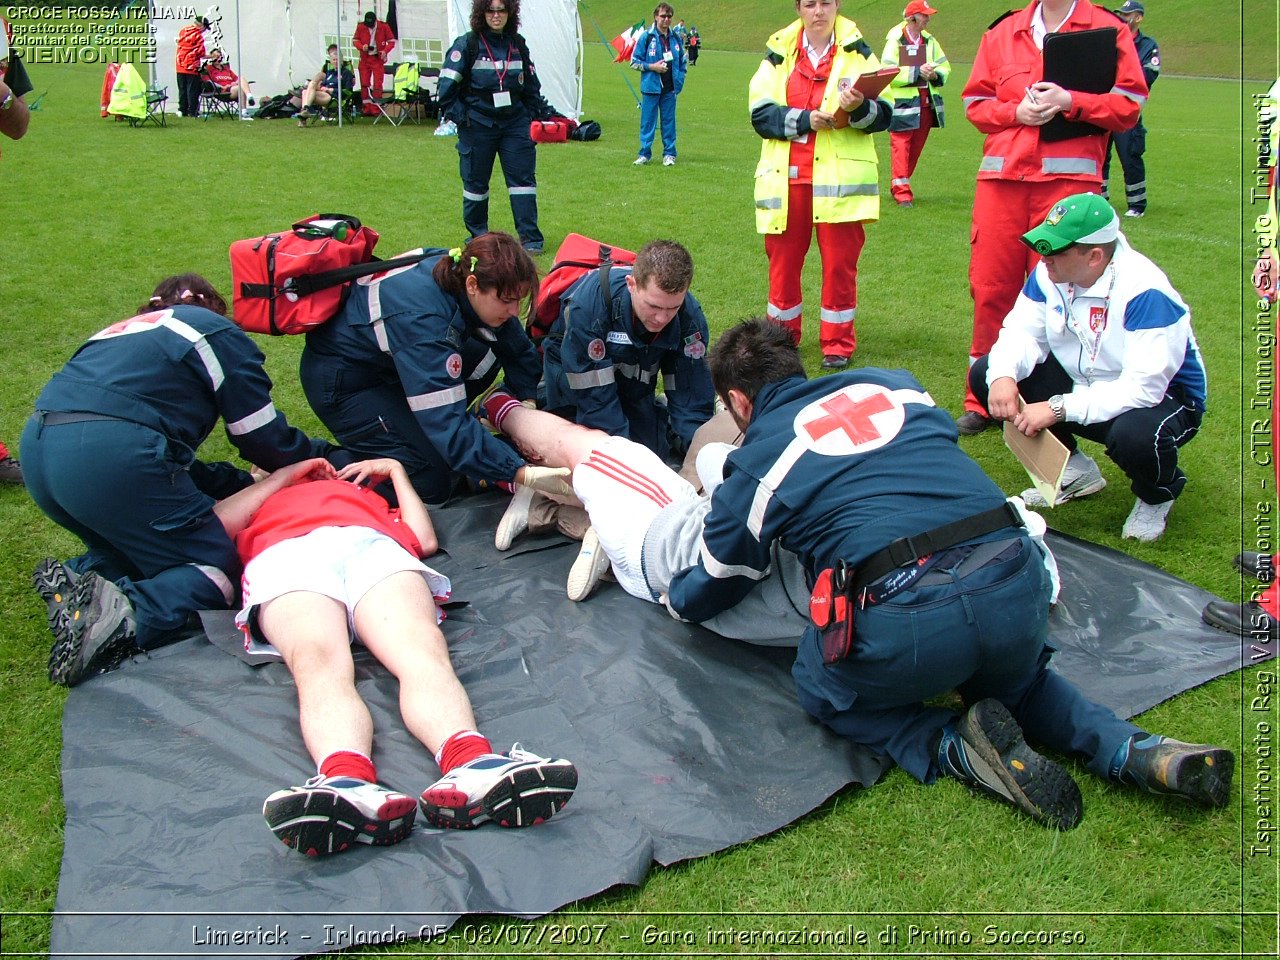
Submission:
[[[312,777],[262,804],[271,832],[307,856],[339,854],[352,844],[398,844],[416,815],[413,797],[356,777]]]

